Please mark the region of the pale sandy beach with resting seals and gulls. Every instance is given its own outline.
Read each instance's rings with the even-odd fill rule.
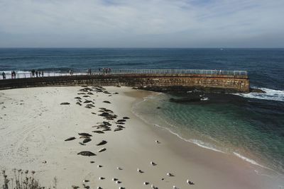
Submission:
[[[180,189],[280,188],[279,178],[259,175],[247,161],[197,147],[136,117],[131,112],[133,103],[152,92],[114,86],[104,87],[108,93],[92,86],[88,86],[91,91],[83,88],[0,91],[0,168],[8,172],[13,168],[34,170],[35,178],[47,187],[54,185],[56,177],[57,188],[84,188],[83,184],[90,188],[134,189],[151,185],[175,185]],[[113,116],[113,120],[102,113]],[[102,130],[104,133],[93,132]],[[82,137],[86,133],[92,136]],[[75,139],[65,141],[70,137]],[[84,139],[91,140],[83,143]],[[106,144],[97,145],[102,141]],[[84,153],[78,154],[81,151],[96,155],[82,156]]]

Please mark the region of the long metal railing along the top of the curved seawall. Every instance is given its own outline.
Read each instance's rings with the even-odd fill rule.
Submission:
[[[1,74],[1,73],[0,73]],[[92,74],[207,74],[207,75],[229,75],[229,76],[247,76],[247,71],[228,71],[228,70],[204,70],[204,69],[111,69],[92,71]],[[13,79],[31,78],[31,77],[46,77],[46,76],[80,76],[89,75],[86,72],[69,72],[62,71],[44,71],[43,75],[33,75],[31,72],[17,72]],[[1,74],[0,79],[3,79]],[[6,73],[6,79],[12,79],[11,73]]]

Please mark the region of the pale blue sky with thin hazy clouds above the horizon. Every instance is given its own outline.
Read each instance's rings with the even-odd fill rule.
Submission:
[[[0,47],[284,47],[284,0],[0,0]]]

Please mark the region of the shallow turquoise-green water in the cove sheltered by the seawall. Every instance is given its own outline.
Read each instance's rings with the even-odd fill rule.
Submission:
[[[231,94],[205,94],[208,101],[186,101],[199,95],[160,93],[134,105],[133,112],[201,147],[284,173],[284,116],[275,113],[283,107],[282,101]],[[182,101],[171,102],[170,98]]]

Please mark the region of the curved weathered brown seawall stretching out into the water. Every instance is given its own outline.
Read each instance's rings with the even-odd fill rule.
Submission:
[[[0,90],[38,86],[133,86],[153,91],[208,91],[249,93],[249,77],[222,74],[93,74],[0,80]]]

